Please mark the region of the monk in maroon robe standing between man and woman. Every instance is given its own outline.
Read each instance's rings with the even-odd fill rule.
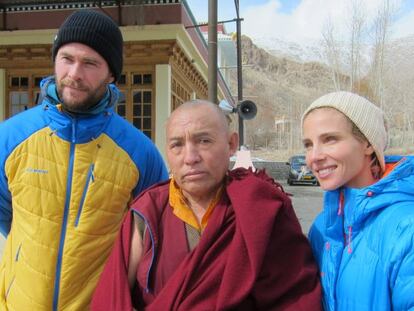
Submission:
[[[172,178],[133,202],[92,310],[320,310],[291,201],[263,171],[228,172],[238,136],[221,110],[186,102],[166,128]]]

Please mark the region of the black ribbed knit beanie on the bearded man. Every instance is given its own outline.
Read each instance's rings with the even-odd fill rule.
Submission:
[[[108,63],[115,81],[119,79],[122,72],[123,39],[118,25],[109,16],[89,9],[69,15],[55,37],[53,61],[59,48],[70,42],[85,44],[98,52]]]

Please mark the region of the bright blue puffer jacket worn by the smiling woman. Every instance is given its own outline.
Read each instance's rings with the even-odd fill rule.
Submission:
[[[414,157],[386,158],[398,161],[371,186],[325,193],[309,238],[326,310],[414,310]]]

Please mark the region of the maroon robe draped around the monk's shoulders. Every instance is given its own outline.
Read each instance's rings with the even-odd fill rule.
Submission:
[[[264,172],[229,173],[223,198],[189,251],[168,183],[132,205],[148,229],[133,294],[138,310],[321,310],[318,271],[291,201]],[[94,311],[129,311],[132,212],[93,296]]]

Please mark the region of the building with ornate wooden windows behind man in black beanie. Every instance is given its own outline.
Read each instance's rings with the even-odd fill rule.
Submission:
[[[2,1],[0,3],[0,121],[36,105],[39,83],[53,74],[52,43],[64,19],[101,10],[124,37],[117,112],[161,151],[165,121],[189,99],[206,99],[207,45],[185,0]],[[218,98],[232,102],[223,76]]]

